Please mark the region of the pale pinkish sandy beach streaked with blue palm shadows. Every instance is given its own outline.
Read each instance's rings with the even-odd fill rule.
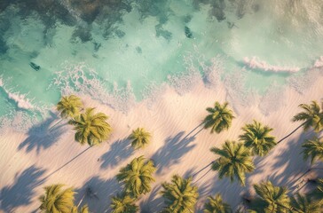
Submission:
[[[44,185],[64,183],[74,186],[79,192],[76,202],[85,188],[91,186],[98,198],[88,197],[84,203],[88,203],[93,212],[104,212],[108,209],[110,197],[121,191],[114,178],[118,170],[134,157],[145,155],[154,160],[158,170],[152,193],[141,197],[138,205],[143,212],[157,212],[163,205],[159,194],[161,183],[169,181],[174,174],[188,176],[201,170],[215,159],[209,148],[221,146],[225,139],[236,140],[244,123],[253,119],[263,122],[274,129],[272,134],[277,139],[294,130],[300,124],[290,121],[299,112],[297,106],[323,98],[323,77],[319,76],[303,94],[288,87],[283,92],[269,93],[265,98],[253,96],[241,101],[235,101],[234,93],[224,88],[222,83],[218,83],[217,87],[206,87],[201,80],[197,80],[189,92],[179,95],[176,89],[165,86],[154,101],[147,99],[136,103],[127,114],[90,97],[82,97],[85,106],[95,106],[98,111],[108,114],[113,127],[113,135],[106,143],[90,149],[74,141],[74,131],[64,122],[58,128],[48,130],[58,122],[52,118],[43,122],[42,127],[35,126],[25,133],[5,130],[0,138],[0,211],[32,212],[39,206],[37,197],[43,193]],[[218,135],[209,134],[209,130],[196,134],[200,129],[194,129],[205,117],[205,108],[212,106],[216,100],[227,100],[234,106],[236,119],[232,128]],[[137,127],[152,132],[153,142],[145,150],[134,152],[127,137]],[[204,176],[209,168],[202,170],[194,177],[200,188],[196,212],[201,211],[205,198],[214,193],[221,193],[224,200],[235,208],[243,194],[252,193],[254,183],[265,179],[272,180],[275,185],[287,185],[295,193],[296,185],[305,177],[297,178],[310,168],[309,162],[303,162],[299,154],[304,138],[311,138],[311,133],[298,130],[268,156],[256,157],[256,170],[248,175],[245,187],[231,184],[227,178],[219,180],[215,171]],[[315,175],[313,171],[308,177]]]

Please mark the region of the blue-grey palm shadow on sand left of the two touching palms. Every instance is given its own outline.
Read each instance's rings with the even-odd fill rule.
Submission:
[[[56,117],[55,114],[51,113],[51,117],[31,127],[28,130],[28,138],[18,146],[18,150],[26,146],[28,153],[35,149],[36,153],[39,154],[42,149],[47,149],[58,141],[65,131],[61,126],[50,129],[51,123],[56,120]]]

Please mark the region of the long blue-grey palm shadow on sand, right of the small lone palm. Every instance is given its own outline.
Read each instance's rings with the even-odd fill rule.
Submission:
[[[169,168],[171,165],[179,163],[181,157],[195,146],[189,145],[195,138],[187,136],[182,138],[184,133],[181,131],[175,137],[167,138],[164,146],[152,156],[157,167],[157,174],[161,174],[165,167]]]

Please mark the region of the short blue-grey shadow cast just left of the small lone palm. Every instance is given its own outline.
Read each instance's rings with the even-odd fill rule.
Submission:
[[[122,140],[114,141],[110,146],[109,151],[103,154],[100,159],[103,161],[100,168],[114,168],[120,162],[126,160],[130,155],[134,153],[132,146],[130,146],[130,141],[128,138]]]

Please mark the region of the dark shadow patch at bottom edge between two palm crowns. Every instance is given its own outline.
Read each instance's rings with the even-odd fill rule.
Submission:
[[[141,213],[155,213],[160,212],[164,206],[164,199],[160,194],[162,185],[154,186],[154,189],[149,193],[145,201],[139,203]]]

